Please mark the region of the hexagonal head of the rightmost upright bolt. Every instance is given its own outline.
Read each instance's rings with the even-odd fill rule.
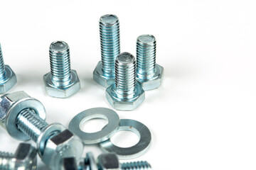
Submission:
[[[161,82],[164,77],[164,67],[161,67],[159,64],[156,64],[156,72],[154,72],[154,76],[150,79],[143,79],[143,76],[137,73],[137,81],[142,84],[142,88],[144,90],[153,90],[159,88],[161,86]]]

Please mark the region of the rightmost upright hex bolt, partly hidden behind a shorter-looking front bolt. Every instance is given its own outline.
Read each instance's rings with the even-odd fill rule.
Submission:
[[[164,68],[156,64],[156,38],[153,35],[140,35],[137,38],[137,81],[144,90],[161,86]]]

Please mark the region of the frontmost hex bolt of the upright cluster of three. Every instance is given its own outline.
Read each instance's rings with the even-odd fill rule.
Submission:
[[[115,61],[115,83],[106,90],[107,101],[120,111],[133,111],[145,99],[142,86],[136,81],[133,55],[123,52]]]

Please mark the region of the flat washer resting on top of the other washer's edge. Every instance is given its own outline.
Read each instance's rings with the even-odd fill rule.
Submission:
[[[93,118],[103,118],[108,120],[108,123],[99,132],[83,132],[80,128],[81,125]],[[78,135],[85,144],[100,143],[110,139],[110,137],[117,132],[119,128],[119,116],[115,111],[112,111],[109,108],[90,108],[75,115],[70,121],[68,128],[71,132],[75,133],[75,135]]]

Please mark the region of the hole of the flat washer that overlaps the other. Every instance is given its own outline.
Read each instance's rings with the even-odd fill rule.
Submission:
[[[108,120],[105,118],[92,118],[90,120],[82,120],[80,123],[80,129],[82,132],[93,133],[99,132],[107,125]]]

